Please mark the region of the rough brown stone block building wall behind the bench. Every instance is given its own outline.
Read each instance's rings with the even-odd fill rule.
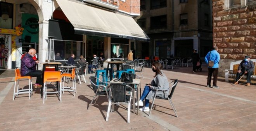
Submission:
[[[256,59],[256,0],[213,0],[213,45],[220,53],[220,75],[245,55]]]

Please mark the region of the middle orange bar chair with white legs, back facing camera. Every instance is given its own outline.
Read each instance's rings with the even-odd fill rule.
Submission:
[[[46,82],[59,82],[57,91],[47,91]],[[52,88],[52,87],[48,87]],[[61,101],[61,71],[45,71],[43,76],[43,103],[47,99],[47,94],[59,93],[59,99]]]

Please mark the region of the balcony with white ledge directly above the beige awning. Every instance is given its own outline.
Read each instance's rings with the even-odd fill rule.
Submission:
[[[101,7],[109,8],[109,9],[118,9],[119,2],[118,0],[83,0],[87,3],[92,3],[94,5],[99,5]]]

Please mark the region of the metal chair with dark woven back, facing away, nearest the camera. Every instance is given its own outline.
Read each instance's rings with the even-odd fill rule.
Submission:
[[[125,84],[110,84],[109,96],[112,94],[112,99],[109,99],[109,106],[107,108],[107,117],[106,121],[109,119],[109,112],[111,104],[128,104],[128,119],[127,123],[130,123],[130,110],[131,110],[131,96],[132,92],[129,95],[126,95],[126,89],[132,87]]]

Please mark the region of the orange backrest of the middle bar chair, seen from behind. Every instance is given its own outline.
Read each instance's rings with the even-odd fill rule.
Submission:
[[[61,81],[61,71],[45,71],[43,82]]]

